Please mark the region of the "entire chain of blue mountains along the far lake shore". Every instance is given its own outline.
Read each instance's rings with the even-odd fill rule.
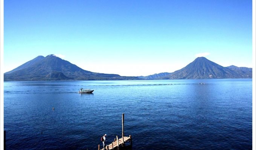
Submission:
[[[154,80],[154,79],[207,79],[252,78],[252,68],[222,67],[204,57],[198,57],[184,68],[149,76],[124,77],[86,71],[55,55],[38,56],[4,74],[4,81],[47,80]]]

